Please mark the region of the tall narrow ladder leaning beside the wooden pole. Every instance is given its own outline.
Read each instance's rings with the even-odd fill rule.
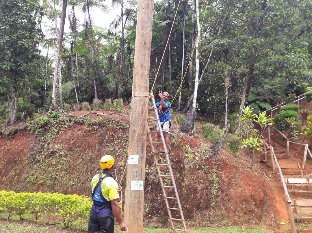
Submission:
[[[168,155],[168,150],[167,150],[167,147],[165,144],[165,139],[163,137],[163,131],[162,131],[162,127],[160,125],[159,116],[158,116],[157,107],[156,107],[156,103],[155,103],[153,93],[151,93],[151,99],[153,102],[156,119],[154,118],[154,119],[148,119],[147,120],[147,124],[148,124],[147,125],[147,131],[149,134],[149,140],[150,140],[150,143],[152,146],[152,151],[153,151],[153,155],[154,155],[154,159],[155,159],[158,177],[159,177],[159,181],[161,184],[161,188],[163,190],[163,196],[165,198],[166,208],[168,211],[172,230],[173,230],[173,233],[176,233],[176,231],[182,231],[182,232],[188,233],[188,231],[186,229],[186,223],[185,223],[183,212],[182,212],[182,207],[181,207],[181,203],[180,203],[180,199],[179,199],[179,195],[178,195],[178,190],[177,190],[176,183],[174,181],[173,171],[171,168],[170,159],[169,159],[169,155]],[[155,134],[159,131],[150,131],[149,124],[152,122],[154,122],[154,123],[157,122],[157,124],[158,124],[159,130],[160,130],[160,135],[161,135],[161,140],[162,140],[161,142],[154,142],[153,141],[152,134],[153,133]],[[164,149],[165,153],[155,154],[154,145],[157,145],[159,143],[163,144],[163,149]],[[182,227],[180,227],[181,229],[176,228],[176,225],[181,226],[181,223],[182,223]]]

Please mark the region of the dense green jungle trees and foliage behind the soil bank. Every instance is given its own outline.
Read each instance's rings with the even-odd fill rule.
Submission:
[[[130,102],[135,0],[3,0],[0,120],[9,118],[10,106],[17,120],[22,112],[30,115],[50,108],[56,20],[60,21],[65,2],[70,27],[65,28],[61,49],[59,104],[81,105],[105,98]],[[265,111],[285,100],[291,102],[312,86],[311,0],[212,0],[205,8],[206,3],[180,2],[162,64],[178,0],[154,3],[150,87],[160,65],[154,91],[174,96],[186,72],[181,100],[178,95],[174,108],[188,110],[195,70],[199,72],[196,111],[215,121],[224,121],[226,104],[228,114],[239,112],[246,103],[256,112]],[[95,8],[103,11],[103,20],[111,21],[108,29],[92,21]],[[120,9],[115,19],[105,17],[112,8]],[[203,20],[199,67],[195,53],[191,57],[198,36],[196,8],[199,21]],[[85,17],[76,18],[77,12]],[[49,22],[48,30],[41,27],[43,21]]]

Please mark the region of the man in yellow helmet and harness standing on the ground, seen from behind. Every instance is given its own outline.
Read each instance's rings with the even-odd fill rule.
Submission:
[[[88,233],[113,233],[116,217],[121,231],[127,230],[118,203],[118,184],[113,179],[112,172],[115,169],[115,159],[110,155],[104,155],[101,160],[103,171],[92,178],[92,200],[88,222]]]

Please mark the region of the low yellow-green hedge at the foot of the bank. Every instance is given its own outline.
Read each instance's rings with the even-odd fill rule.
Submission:
[[[82,229],[89,218],[89,197],[61,193],[14,193],[0,191],[0,217],[17,215],[21,220],[63,222],[66,228]],[[52,220],[53,219],[53,220]]]

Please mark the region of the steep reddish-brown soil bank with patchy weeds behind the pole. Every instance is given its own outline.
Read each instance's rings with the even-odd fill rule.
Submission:
[[[128,155],[128,115],[85,112],[39,117],[28,124],[2,128],[0,188],[15,192],[59,192],[90,196],[90,180],[99,159],[115,157],[119,179]],[[174,123],[174,122],[173,122]],[[200,123],[197,122],[197,133]],[[184,217],[189,226],[261,225],[278,230],[287,221],[280,180],[266,178],[266,164],[250,166],[243,154],[226,148],[210,155],[199,134],[170,129],[169,154]],[[125,187],[124,177],[121,186]],[[168,213],[149,142],[146,152],[144,221],[168,225]]]

